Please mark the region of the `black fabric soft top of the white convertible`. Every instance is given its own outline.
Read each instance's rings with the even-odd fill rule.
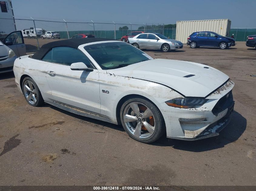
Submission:
[[[67,40],[58,40],[51,43],[44,44],[37,53],[35,53],[31,58],[41,60],[49,50],[58,46],[68,46],[71,48],[77,49],[81,44],[99,42],[99,41],[109,41],[114,39],[107,38],[80,38],[80,39],[67,39]],[[116,40],[118,41],[118,40]]]

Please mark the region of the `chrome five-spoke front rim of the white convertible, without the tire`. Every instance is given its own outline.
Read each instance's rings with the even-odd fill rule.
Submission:
[[[137,138],[149,138],[155,132],[155,117],[143,103],[132,102],[125,107],[124,122],[128,131]]]

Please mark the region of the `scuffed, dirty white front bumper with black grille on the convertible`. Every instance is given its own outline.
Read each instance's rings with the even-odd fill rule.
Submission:
[[[183,109],[158,104],[165,119],[167,138],[193,141],[219,135],[234,110],[233,87],[234,82],[229,79],[205,97],[208,101],[201,107]]]

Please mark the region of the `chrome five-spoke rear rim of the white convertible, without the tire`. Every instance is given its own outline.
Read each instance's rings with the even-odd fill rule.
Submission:
[[[28,102],[34,105],[37,100],[37,91],[35,89],[34,84],[31,81],[26,80],[23,84],[23,91]]]

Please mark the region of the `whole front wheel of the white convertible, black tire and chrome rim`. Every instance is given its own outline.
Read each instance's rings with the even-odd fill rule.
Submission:
[[[127,134],[136,141],[151,143],[164,134],[164,118],[148,100],[135,97],[126,100],[120,110],[120,119]]]

